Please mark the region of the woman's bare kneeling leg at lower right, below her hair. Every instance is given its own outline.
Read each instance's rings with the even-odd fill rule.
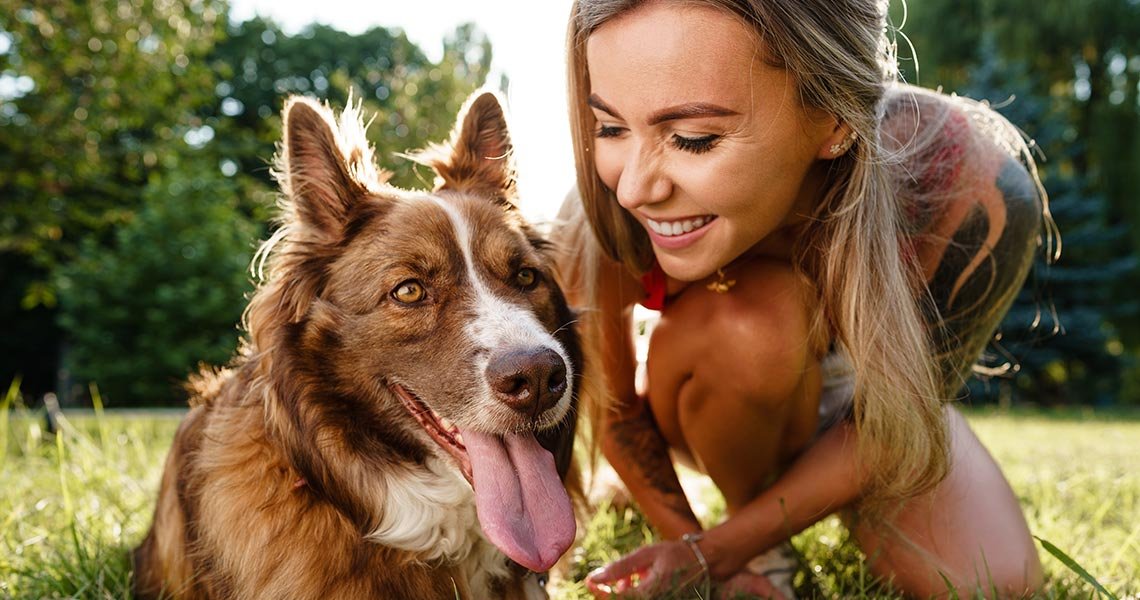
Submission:
[[[887,525],[853,532],[877,575],[907,594],[1024,595],[1041,586],[1041,562],[1013,490],[958,411],[947,408],[950,473],[930,494],[909,501]],[[943,578],[945,577],[945,579]]]

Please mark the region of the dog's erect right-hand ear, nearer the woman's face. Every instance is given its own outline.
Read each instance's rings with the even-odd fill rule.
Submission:
[[[459,112],[451,140],[413,157],[439,176],[435,189],[490,194],[512,203],[516,195],[511,133],[498,97],[475,92]]]

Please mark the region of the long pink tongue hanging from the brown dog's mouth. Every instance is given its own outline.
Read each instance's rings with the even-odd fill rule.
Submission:
[[[462,435],[487,538],[530,570],[549,569],[573,543],[576,530],[554,456],[530,433]]]

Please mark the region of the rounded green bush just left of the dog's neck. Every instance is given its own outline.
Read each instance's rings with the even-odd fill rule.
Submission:
[[[213,169],[154,176],[114,243],[88,241],[59,270],[73,376],[119,406],[171,404],[198,362],[229,358],[256,232],[235,197]]]

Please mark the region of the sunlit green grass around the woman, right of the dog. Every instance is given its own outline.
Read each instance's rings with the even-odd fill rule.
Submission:
[[[1140,414],[971,411],[968,419],[1002,465],[1031,532],[1047,544],[1042,597],[1140,599]],[[706,520],[723,513],[712,489],[700,503]],[[591,598],[580,583],[587,573],[652,540],[635,510],[598,510],[555,598]],[[866,571],[836,517],[796,536],[792,545],[801,557],[795,579],[801,598],[898,597]]]

